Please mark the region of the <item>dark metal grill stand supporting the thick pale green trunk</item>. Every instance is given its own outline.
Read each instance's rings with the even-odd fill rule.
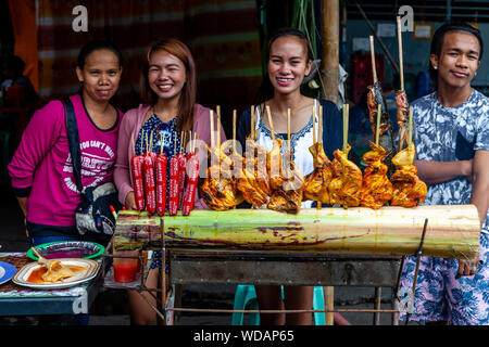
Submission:
[[[414,254],[417,258],[416,270],[414,274],[414,284],[412,288],[412,298],[416,288],[416,281],[418,275],[419,260],[423,255],[424,241],[427,230],[428,219],[425,219],[419,245],[417,252]],[[327,255],[317,257],[317,255],[301,255],[294,258],[290,255],[284,254],[255,254],[253,252],[211,252],[211,250],[191,250],[191,249],[170,249],[165,241],[164,233],[164,217],[161,218],[160,236],[162,237],[162,268],[165,268],[166,259],[168,259],[168,281],[166,281],[164,271],[162,271],[161,281],[156,290],[151,290],[145,285],[145,273],[141,267],[139,280],[136,285],[128,287],[127,285],[104,284],[105,287],[118,290],[136,290],[138,293],[143,291],[149,292],[156,300],[156,306],[147,303],[156,312],[158,318],[162,324],[166,324],[168,312],[200,312],[200,313],[279,313],[279,312],[325,312],[333,317],[334,312],[339,313],[374,313],[374,325],[379,324],[380,313],[391,313],[392,324],[398,324],[398,314],[400,310],[396,307],[396,301],[400,301],[397,293],[400,285],[401,273],[403,270],[403,258],[386,257],[386,256],[331,256]],[[112,244],[112,242],[111,242]],[[111,249],[111,244],[108,249]],[[109,259],[114,255],[106,250],[103,255],[102,267],[106,270],[110,266]],[[265,257],[265,259],[263,259]],[[139,257],[142,261],[142,258]],[[259,260],[261,259],[261,260]],[[354,268],[359,268],[358,273],[363,273],[363,278],[358,274],[352,274]],[[335,271],[344,269],[348,279],[344,280],[344,273],[335,275]],[[305,271],[309,269],[309,271]],[[296,271],[294,271],[296,270]],[[369,271],[368,271],[369,270]],[[374,273],[379,270],[385,270],[386,273]],[[294,272],[291,272],[294,271]],[[105,274],[106,271],[103,271]],[[266,273],[271,275],[265,278]],[[272,274],[275,272],[275,275]],[[309,272],[309,273],[308,273]],[[354,272],[354,270],[353,270]],[[367,273],[371,272],[371,273]],[[286,280],[284,274],[296,273],[296,277]],[[323,273],[323,274],[322,274]],[[396,275],[397,274],[397,275]],[[342,277],[342,280],[339,278]],[[396,279],[396,281],[394,281]],[[372,282],[374,281],[374,282]],[[104,281],[105,282],[105,281]],[[328,283],[327,283],[328,282]],[[195,309],[181,307],[168,307],[170,296],[172,294],[174,284],[188,283],[252,283],[252,284],[288,284],[288,285],[324,285],[326,288],[324,310],[229,310],[229,309]],[[337,309],[334,307],[333,287],[335,285],[368,285],[376,287],[375,305],[373,309]],[[396,286],[394,300],[391,309],[380,309],[380,286]],[[141,295],[142,296],[142,295]],[[143,297],[143,296],[142,296]],[[146,299],[146,298],[145,298]],[[405,324],[409,322],[410,312],[412,310],[413,300],[406,307],[408,316]],[[333,324],[331,319],[327,325]]]

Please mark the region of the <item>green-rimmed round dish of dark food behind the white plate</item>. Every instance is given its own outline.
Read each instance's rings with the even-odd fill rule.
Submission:
[[[62,259],[62,258],[84,258],[93,259],[100,257],[105,248],[96,243],[88,241],[62,241],[50,242],[34,247],[46,259]],[[37,255],[33,249],[28,249],[27,257],[37,260]]]

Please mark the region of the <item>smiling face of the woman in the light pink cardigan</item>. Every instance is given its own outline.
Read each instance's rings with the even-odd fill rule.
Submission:
[[[166,51],[156,51],[149,61],[148,82],[159,99],[179,98],[187,80],[184,63]]]

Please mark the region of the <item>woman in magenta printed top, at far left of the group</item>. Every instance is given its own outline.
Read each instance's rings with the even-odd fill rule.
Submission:
[[[76,66],[82,89],[70,99],[78,126],[84,187],[112,180],[123,113],[110,100],[121,74],[121,53],[113,44],[91,41],[82,48]],[[75,227],[82,198],[73,177],[62,101],[50,101],[34,114],[9,172],[33,246],[71,240],[108,242],[104,235],[82,236]]]

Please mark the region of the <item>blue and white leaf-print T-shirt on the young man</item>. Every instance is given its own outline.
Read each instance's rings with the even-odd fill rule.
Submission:
[[[489,99],[473,90],[467,101],[443,107],[431,93],[413,102],[416,155],[419,160],[468,160],[489,151]],[[425,205],[469,204],[472,183],[464,177],[428,185]],[[488,214],[489,216],[489,214]],[[489,232],[486,218],[481,232]]]

